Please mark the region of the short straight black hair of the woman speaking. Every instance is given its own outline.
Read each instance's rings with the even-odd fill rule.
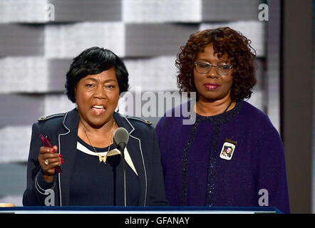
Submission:
[[[66,94],[73,103],[76,103],[75,88],[82,78],[86,76],[102,73],[115,67],[119,93],[128,91],[129,73],[125,63],[113,53],[105,48],[97,46],[88,48],[73,58],[68,73],[66,74]]]

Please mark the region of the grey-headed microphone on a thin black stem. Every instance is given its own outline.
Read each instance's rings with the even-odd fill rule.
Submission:
[[[126,187],[125,187],[125,147],[129,140],[129,133],[125,128],[117,128],[114,133],[113,142],[115,147],[120,151],[120,155],[123,160],[123,187],[124,187],[124,199],[125,207],[127,206]]]

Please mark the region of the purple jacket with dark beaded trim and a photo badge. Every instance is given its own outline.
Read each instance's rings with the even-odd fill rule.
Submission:
[[[174,117],[156,127],[171,206],[274,206],[289,213],[284,148],[267,115],[242,100],[220,115]],[[232,157],[224,150],[234,147]],[[223,158],[222,158],[223,157]]]

